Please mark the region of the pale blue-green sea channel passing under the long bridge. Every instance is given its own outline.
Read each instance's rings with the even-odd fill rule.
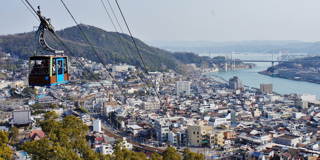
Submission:
[[[208,55],[209,56],[209,55]],[[219,54],[211,54],[211,58],[219,56]],[[224,56],[224,54],[221,54]],[[274,54],[274,57],[278,55]],[[272,55],[263,54],[263,53],[240,53],[235,54],[235,59],[241,60],[261,60],[261,59],[272,59]],[[276,58],[274,58],[276,59]],[[244,62],[245,63],[245,62]],[[230,62],[228,62],[230,64]],[[237,76],[242,82],[243,85],[250,87],[260,88],[260,84],[273,84],[273,91],[279,94],[315,94],[317,99],[320,99],[320,84],[294,81],[291,79],[284,79],[278,77],[270,77],[267,75],[259,74],[259,71],[267,70],[268,67],[271,67],[271,62],[255,62],[257,64],[254,68],[249,69],[236,69],[236,70],[227,70],[207,73],[205,75],[217,75],[228,80],[233,76]],[[275,63],[277,64],[277,63]],[[215,79],[224,82],[219,77],[213,76]]]

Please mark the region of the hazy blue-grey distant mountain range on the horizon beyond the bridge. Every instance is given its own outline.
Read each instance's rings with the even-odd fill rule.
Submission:
[[[150,46],[159,47],[171,52],[195,52],[202,54],[208,53],[272,53],[283,52],[283,49],[289,53],[308,53],[320,54],[320,42],[303,42],[298,40],[271,41],[230,41],[230,42],[212,42],[212,41],[144,41]]]

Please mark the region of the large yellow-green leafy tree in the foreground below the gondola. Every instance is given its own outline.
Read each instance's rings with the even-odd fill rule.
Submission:
[[[79,118],[66,116],[61,121],[56,121],[59,116],[54,111],[45,113],[43,117],[44,120],[39,123],[46,137],[23,143],[22,148],[48,159],[98,160],[98,154],[86,145],[85,132],[89,128]]]

